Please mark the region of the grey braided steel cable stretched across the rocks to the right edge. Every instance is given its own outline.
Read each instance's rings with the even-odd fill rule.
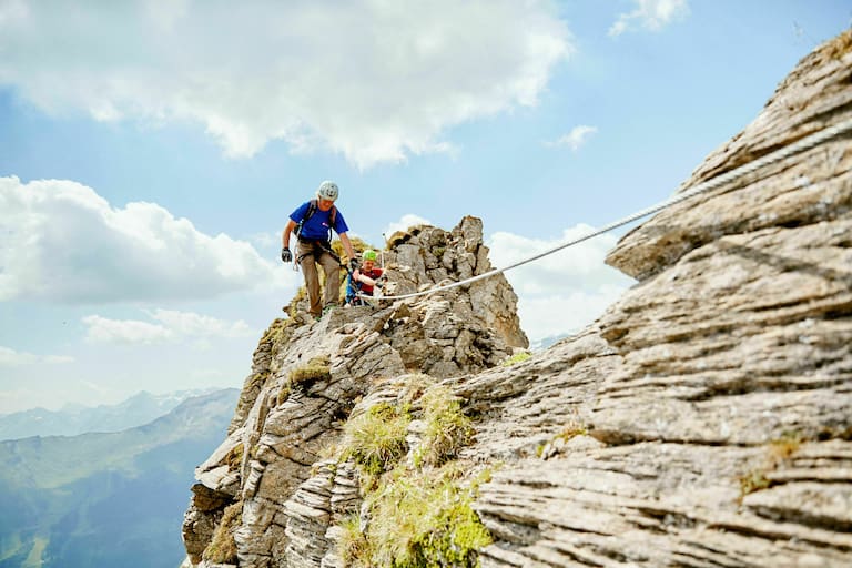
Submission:
[[[585,234],[580,237],[574,239],[571,241],[568,241],[567,243],[562,243],[558,246],[555,246],[548,251],[545,251],[540,254],[536,254],[535,256],[530,256],[528,258],[525,258],[523,261],[516,262],[515,264],[510,264],[508,266],[504,266],[503,268],[494,268],[491,271],[485,272],[483,274],[479,274],[477,276],[471,276],[469,278],[453,282],[450,284],[445,284],[443,286],[438,286],[430,290],[423,290],[420,292],[413,292],[410,294],[399,294],[396,296],[388,295],[383,296],[382,300],[406,300],[412,297],[418,297],[418,296],[426,296],[428,294],[435,294],[436,292],[443,292],[445,290],[450,290],[457,286],[465,286],[467,284],[471,284],[474,282],[489,278],[491,276],[496,276],[497,274],[501,274],[506,271],[510,271],[511,268],[517,268],[518,266],[523,266],[524,264],[528,264],[530,262],[537,261],[539,258],[542,258],[545,256],[548,256],[550,254],[554,254],[556,252],[561,251],[562,248],[568,248],[569,246],[574,246],[576,244],[582,243],[584,241],[588,241],[589,239],[592,239],[595,236],[601,235],[604,233],[607,233],[609,231],[612,231],[613,229],[618,229],[620,226],[627,225],[629,223],[632,223],[633,221],[637,221],[639,219],[642,219],[645,216],[648,216],[652,213],[657,213],[659,211],[662,211],[667,207],[670,207],[671,205],[674,205],[677,203],[680,203],[681,201],[686,201],[690,197],[693,197],[698,195],[699,193],[704,193],[710,190],[718,189],[727,183],[730,183],[739,178],[743,178],[750,173],[755,172],[757,170],[760,170],[761,168],[765,168],[767,165],[771,165],[775,162],[779,162],[781,160],[784,160],[787,158],[790,158],[791,155],[798,154],[799,152],[803,152],[805,150],[811,150],[823,142],[826,142],[833,138],[839,136],[840,134],[843,134],[845,132],[849,132],[852,130],[852,119],[848,119],[845,121],[839,122],[838,124],[834,124],[832,126],[826,126],[820,131],[816,131],[813,134],[810,134],[805,138],[802,138],[792,144],[789,144],[787,146],[780,148],[775,150],[774,152],[770,152],[769,154],[762,155],[747,164],[743,164],[734,170],[731,170],[729,172],[726,172],[723,174],[718,175],[717,178],[713,178],[711,180],[708,180],[706,182],[701,182],[691,190],[684,191],[683,193],[680,193],[678,195],[673,195],[672,197],[669,197],[666,201],[659,202],[655,205],[651,205],[650,207],[643,209],[641,211],[638,211],[631,215],[628,215],[619,221],[615,221],[608,225],[605,225],[597,231],[592,231],[588,234]],[[362,294],[358,294],[359,296]],[[366,296],[369,297],[369,296]]]

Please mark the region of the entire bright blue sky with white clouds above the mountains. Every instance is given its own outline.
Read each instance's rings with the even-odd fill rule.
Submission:
[[[0,0],[0,413],[241,386],[352,234],[483,219],[505,266],[667,199],[850,26],[852,1]],[[530,339],[632,281],[618,234],[507,273]]]

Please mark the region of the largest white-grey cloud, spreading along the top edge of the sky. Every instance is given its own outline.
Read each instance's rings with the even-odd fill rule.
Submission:
[[[574,52],[546,0],[24,8],[0,19],[0,84],[45,111],[197,122],[232,156],[280,139],[361,168],[446,152],[446,129],[535,105]]]

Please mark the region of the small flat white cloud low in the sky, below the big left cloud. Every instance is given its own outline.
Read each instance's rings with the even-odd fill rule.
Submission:
[[[241,321],[226,322],[193,312],[154,310],[148,315],[156,323],[140,320],[110,320],[99,315],[83,317],[89,327],[87,341],[123,345],[178,343],[186,338],[203,342],[214,337],[244,337],[255,334]]]

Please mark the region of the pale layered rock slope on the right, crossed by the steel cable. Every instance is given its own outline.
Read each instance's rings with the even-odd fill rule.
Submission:
[[[849,120],[850,45],[684,189]],[[594,326],[456,382],[491,414],[469,452],[507,464],[484,567],[852,565],[851,140],[657,214],[609,254],[639,283]]]

